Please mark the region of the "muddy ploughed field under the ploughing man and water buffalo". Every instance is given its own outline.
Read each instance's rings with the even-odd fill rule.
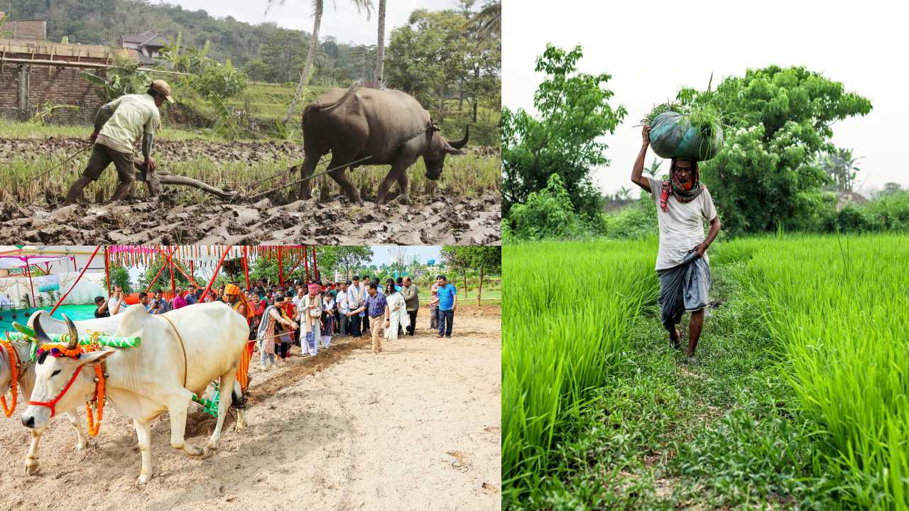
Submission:
[[[76,138],[0,140],[0,167],[14,160],[25,160],[28,167],[17,182],[25,186],[22,179],[63,161],[66,155],[84,145],[84,140]],[[497,157],[495,149],[479,147],[472,151],[479,157]],[[302,159],[303,147],[289,142],[223,144],[161,140],[155,142],[155,154],[160,156],[158,163],[163,169],[175,168],[168,162],[200,157],[224,168],[248,164],[255,169],[261,165],[263,170],[254,171],[255,177],[273,175],[275,162],[293,163]],[[87,152],[80,157],[87,157]],[[32,160],[35,160],[34,168],[27,163]],[[247,200],[245,197],[262,190],[242,189],[242,186],[236,198],[230,200],[200,196],[199,192],[187,200],[187,188],[176,185],[163,185],[161,195],[150,198],[145,195],[145,185],[137,183],[133,198],[116,204],[104,204],[103,197],[87,194],[86,200],[91,202],[60,207],[65,188],[81,171],[82,161],[77,158],[51,174],[53,185],[39,186],[44,181],[27,184],[28,192],[22,194],[27,198],[25,201],[14,200],[12,196],[0,200],[3,227],[0,243],[478,245],[501,240],[501,195],[497,188],[464,195],[436,190],[429,183],[422,183],[422,188],[414,190],[417,187],[414,184],[409,205],[397,200],[376,205],[368,200],[367,194],[365,205],[360,206],[337,194],[299,201],[285,191]],[[447,165],[445,172],[453,173],[448,179],[470,185],[469,175],[455,178],[454,173],[458,171],[447,169]],[[113,166],[105,174],[113,175]],[[282,179],[292,176],[298,175],[286,175]],[[110,181],[112,177],[105,179]],[[373,183],[361,185],[361,190],[372,189],[371,186]],[[396,191],[396,185],[393,190]]]

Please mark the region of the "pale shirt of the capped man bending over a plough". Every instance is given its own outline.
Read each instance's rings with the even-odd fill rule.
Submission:
[[[142,134],[154,134],[161,126],[161,114],[151,95],[121,95],[102,108],[113,109],[114,115],[107,119],[95,142],[121,153],[132,155],[133,145]]]

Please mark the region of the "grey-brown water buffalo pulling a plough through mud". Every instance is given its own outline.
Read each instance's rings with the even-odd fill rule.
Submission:
[[[445,155],[465,154],[461,148],[467,145],[469,135],[466,128],[461,140],[445,139],[423,106],[412,95],[401,91],[365,87],[332,89],[314,104],[307,105],[303,112],[305,159],[301,178],[313,175],[319,159],[331,151],[328,168],[339,168],[329,175],[352,201],[363,204],[360,194],[347,180],[345,169],[360,165],[392,165],[379,185],[375,197],[378,204],[385,203],[388,189],[395,181],[406,199],[407,168],[423,156],[426,177],[435,181],[442,175]],[[302,199],[310,198],[311,182],[304,181],[298,194]]]

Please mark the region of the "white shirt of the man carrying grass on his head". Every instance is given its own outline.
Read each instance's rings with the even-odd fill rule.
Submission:
[[[652,177],[648,177],[647,181],[656,201],[656,219],[660,225],[660,250],[656,255],[656,270],[659,271],[680,265],[684,256],[704,241],[704,220],[713,220],[716,208],[710,191],[705,188],[687,203],[681,203],[669,194],[666,211],[663,211],[660,207],[663,182]],[[706,252],[704,261],[710,262]]]

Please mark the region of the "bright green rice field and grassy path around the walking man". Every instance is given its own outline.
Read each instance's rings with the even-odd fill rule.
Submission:
[[[505,247],[504,507],[909,508],[909,236],[715,243],[694,364],[656,247]]]

